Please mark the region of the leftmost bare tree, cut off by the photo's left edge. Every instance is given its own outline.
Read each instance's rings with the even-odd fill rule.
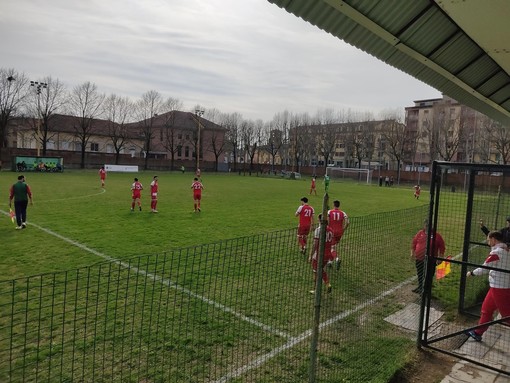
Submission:
[[[0,155],[6,148],[9,121],[20,113],[27,96],[28,79],[14,69],[0,69]]]

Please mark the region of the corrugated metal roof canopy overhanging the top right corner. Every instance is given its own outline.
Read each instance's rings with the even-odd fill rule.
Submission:
[[[510,126],[509,0],[268,0]]]

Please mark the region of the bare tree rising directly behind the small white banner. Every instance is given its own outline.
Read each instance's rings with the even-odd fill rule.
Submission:
[[[108,121],[108,135],[115,150],[115,164],[118,164],[120,153],[126,148],[129,140],[126,123],[132,117],[133,103],[127,97],[111,94],[105,100],[104,110]]]

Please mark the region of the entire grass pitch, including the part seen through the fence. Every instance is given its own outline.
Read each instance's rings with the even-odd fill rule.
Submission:
[[[143,211],[131,212],[133,174],[109,174],[104,191],[95,171],[27,174],[28,228],[14,230],[8,206],[1,209],[1,279],[21,279],[5,283],[0,300],[13,313],[0,320],[0,379],[9,359],[13,381],[227,381],[214,379],[284,349],[256,377],[228,380],[306,380],[312,277],[293,228],[309,180],[205,174],[202,212],[193,213],[192,176],[159,173],[152,214],[153,175],[136,175],[146,190]],[[0,173],[5,189],[15,179]],[[330,185],[352,226],[323,307],[332,321],[321,339],[321,381],[384,382],[412,354],[413,340],[382,320],[401,306],[394,286],[414,274],[408,246],[428,201],[412,194]],[[320,211],[322,196],[309,198]],[[48,274],[23,279],[40,273]],[[367,352],[376,363],[360,357]]]

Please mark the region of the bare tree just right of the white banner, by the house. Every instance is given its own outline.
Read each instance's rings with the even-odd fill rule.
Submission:
[[[154,139],[154,118],[161,113],[163,97],[158,91],[150,90],[142,94],[135,107],[135,116],[140,121],[140,135],[143,138],[144,170],[148,168],[148,160]]]

